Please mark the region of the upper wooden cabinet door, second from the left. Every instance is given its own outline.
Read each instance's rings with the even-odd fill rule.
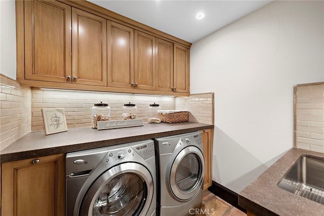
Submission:
[[[72,8],[72,82],[107,86],[107,21]]]

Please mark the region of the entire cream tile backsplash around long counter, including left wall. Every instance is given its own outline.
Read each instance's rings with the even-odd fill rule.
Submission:
[[[1,145],[0,150],[30,131],[44,130],[42,108],[64,108],[67,126],[90,127],[91,107],[103,101],[111,107],[111,120],[120,120],[123,105],[128,102],[138,107],[138,119],[147,122],[147,107],[158,103],[162,110],[187,110],[189,121],[214,124],[214,93],[193,94],[189,97],[117,94],[42,90],[20,86],[0,74],[1,86]]]

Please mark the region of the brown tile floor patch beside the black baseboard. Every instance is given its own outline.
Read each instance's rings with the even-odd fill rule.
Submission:
[[[204,191],[201,212],[196,216],[246,216],[247,214],[215,196],[209,191]]]

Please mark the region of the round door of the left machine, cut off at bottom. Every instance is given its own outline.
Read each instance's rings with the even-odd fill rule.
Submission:
[[[153,179],[141,164],[123,163],[100,175],[87,191],[79,215],[145,214],[153,197]]]

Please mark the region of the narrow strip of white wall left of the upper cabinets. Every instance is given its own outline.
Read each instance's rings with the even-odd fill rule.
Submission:
[[[15,1],[1,0],[0,12],[0,73],[16,80]]]

